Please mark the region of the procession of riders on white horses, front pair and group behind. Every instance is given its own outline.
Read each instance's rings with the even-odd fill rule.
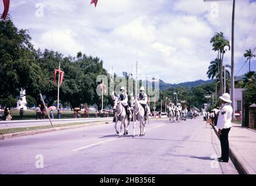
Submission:
[[[128,134],[128,127],[131,121],[134,122],[134,134],[135,136],[135,123],[136,121],[140,122],[141,133],[140,136],[145,135],[145,124],[148,120],[150,108],[148,105],[148,95],[145,92],[145,88],[142,86],[139,88],[139,94],[134,96],[131,95],[131,106],[128,105],[128,95],[125,90],[125,87],[122,86],[120,88],[120,92],[117,96],[115,96],[114,92],[112,93],[112,99],[114,101],[114,118],[113,122],[115,123],[115,131],[120,135],[122,133],[122,128],[124,128],[124,134]],[[180,123],[181,120],[186,120],[188,116],[188,109],[185,106],[183,109],[181,103],[170,102],[167,105],[167,116],[169,117],[170,122],[174,122],[175,120]],[[191,112],[191,111],[190,111]],[[194,112],[193,112],[194,114]],[[128,123],[125,124],[125,119],[127,119]],[[117,122],[121,122],[120,131],[117,130]],[[148,120],[149,123],[149,120]]]

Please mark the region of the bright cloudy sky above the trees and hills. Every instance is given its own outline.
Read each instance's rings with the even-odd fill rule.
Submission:
[[[15,0],[9,13],[18,28],[30,31],[35,48],[98,56],[117,74],[131,72],[138,61],[139,76],[167,83],[206,80],[209,62],[217,56],[211,37],[223,31],[231,40],[232,1],[99,0],[95,8],[90,0]],[[244,51],[256,47],[255,0],[236,1],[235,24],[240,75],[248,71]],[[230,64],[230,57],[228,51],[224,63]]]

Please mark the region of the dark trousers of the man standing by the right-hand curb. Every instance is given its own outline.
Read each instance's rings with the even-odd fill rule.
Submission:
[[[229,160],[229,131],[230,128],[223,128],[220,134],[220,145],[222,146],[222,159]]]

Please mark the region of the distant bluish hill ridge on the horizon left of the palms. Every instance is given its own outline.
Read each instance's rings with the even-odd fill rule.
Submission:
[[[197,80],[197,81],[188,81],[185,83],[178,83],[178,84],[170,84],[165,83],[163,80],[159,80],[159,89],[160,90],[167,90],[169,87],[177,88],[177,87],[197,87],[199,85],[211,84],[214,80]]]

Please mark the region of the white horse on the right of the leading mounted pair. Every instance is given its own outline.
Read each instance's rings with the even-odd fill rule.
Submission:
[[[141,133],[139,134],[139,136],[145,135],[146,134],[145,132],[146,121],[144,118],[145,110],[141,106],[141,103],[139,103],[138,99],[136,99],[133,95],[131,95],[131,110],[133,110],[132,119],[134,121],[134,133],[132,134],[132,137],[135,137],[135,125],[137,120],[139,121],[139,128],[141,128]]]

